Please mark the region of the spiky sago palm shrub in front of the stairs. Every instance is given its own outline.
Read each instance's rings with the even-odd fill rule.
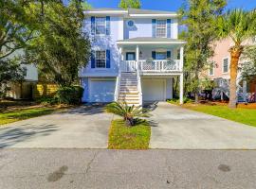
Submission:
[[[149,114],[140,106],[128,106],[126,102],[113,102],[106,106],[107,112],[113,112],[123,117],[126,126],[135,126],[136,118],[147,117]]]

